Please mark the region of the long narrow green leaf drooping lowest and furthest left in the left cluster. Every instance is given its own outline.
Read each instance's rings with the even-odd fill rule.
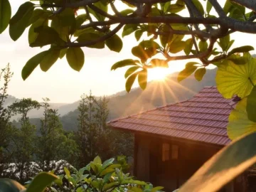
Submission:
[[[22,76],[23,80],[26,80],[26,78],[28,78],[28,76],[31,75],[33,70],[39,65],[39,63],[41,63],[41,61],[43,60],[43,58],[47,54],[47,52],[48,52],[48,50],[45,50],[45,51],[33,56],[33,58],[31,58],[30,60],[28,60],[28,62],[23,67],[22,72],[21,72],[21,76]]]

